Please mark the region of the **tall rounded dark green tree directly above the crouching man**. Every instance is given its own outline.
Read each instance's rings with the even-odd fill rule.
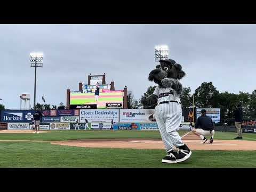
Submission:
[[[194,93],[195,105],[199,108],[218,107],[218,95],[219,91],[213,86],[212,82],[204,82],[197,87]]]

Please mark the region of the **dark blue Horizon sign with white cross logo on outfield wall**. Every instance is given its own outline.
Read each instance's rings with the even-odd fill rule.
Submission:
[[[2,110],[1,122],[32,122],[34,110]]]

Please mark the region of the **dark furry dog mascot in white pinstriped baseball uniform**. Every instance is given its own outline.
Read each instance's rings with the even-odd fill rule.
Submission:
[[[186,161],[192,153],[177,132],[182,117],[180,102],[182,85],[179,79],[186,74],[181,65],[172,59],[159,62],[160,65],[157,65],[148,76],[149,81],[154,81],[158,86],[153,94],[141,98],[141,103],[144,108],[155,107],[155,114],[151,115],[151,118],[156,119],[168,154],[162,162],[179,163]]]

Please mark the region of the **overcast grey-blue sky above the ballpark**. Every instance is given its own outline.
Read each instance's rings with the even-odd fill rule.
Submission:
[[[37,68],[36,102],[66,106],[67,87],[78,91],[87,77],[106,73],[115,89],[127,86],[135,99],[147,87],[155,68],[154,47],[169,46],[180,63],[183,87],[191,93],[203,82],[220,92],[251,93],[256,86],[256,25],[0,25],[0,104],[20,109],[19,95],[34,102],[35,68],[29,53],[43,52]]]

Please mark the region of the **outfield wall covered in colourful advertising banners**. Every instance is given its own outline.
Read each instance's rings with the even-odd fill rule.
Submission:
[[[42,130],[75,130],[78,119],[81,130],[159,130],[156,122],[149,121],[154,109],[69,109],[44,110],[41,119]],[[0,130],[29,130],[32,127],[34,110],[0,110]],[[85,124],[85,119],[89,124]],[[113,126],[111,127],[111,119]],[[85,129],[86,127],[86,129]],[[181,123],[179,130],[190,130],[188,122]],[[216,126],[216,131],[224,130]],[[245,133],[256,133],[256,125],[242,125]],[[226,131],[236,132],[234,126]]]

